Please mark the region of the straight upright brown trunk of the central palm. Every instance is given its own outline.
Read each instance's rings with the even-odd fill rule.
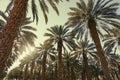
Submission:
[[[62,39],[58,42],[58,80],[62,80]]]

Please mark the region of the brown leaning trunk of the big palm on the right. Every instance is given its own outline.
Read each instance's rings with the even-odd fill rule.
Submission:
[[[98,32],[97,32],[96,26],[97,26],[96,22],[93,19],[88,20],[88,27],[90,29],[92,39],[93,39],[93,41],[95,42],[95,45],[96,45],[96,49],[97,49],[97,52],[98,52],[97,55],[100,58],[103,73],[105,75],[106,80],[111,80],[110,71],[109,71],[109,68],[108,68],[108,62],[107,62],[106,57],[104,55],[104,51],[103,51],[101,43],[100,43],[100,39],[99,39],[99,35],[98,35]]]

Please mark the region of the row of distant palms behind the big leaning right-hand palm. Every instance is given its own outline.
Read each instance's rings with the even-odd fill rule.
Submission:
[[[73,37],[69,27],[53,26],[47,29],[45,36],[49,38],[36,48],[37,57],[21,61],[21,66],[13,69],[8,79],[30,80],[104,80],[105,75],[101,67],[95,44],[88,40],[87,33],[84,38]],[[62,46],[59,47],[59,41]],[[114,44],[104,39],[106,59],[109,64],[112,80],[120,79],[120,57],[117,55]],[[109,45],[109,47],[108,47]],[[110,49],[111,48],[111,49]],[[112,51],[109,51],[112,50]]]

